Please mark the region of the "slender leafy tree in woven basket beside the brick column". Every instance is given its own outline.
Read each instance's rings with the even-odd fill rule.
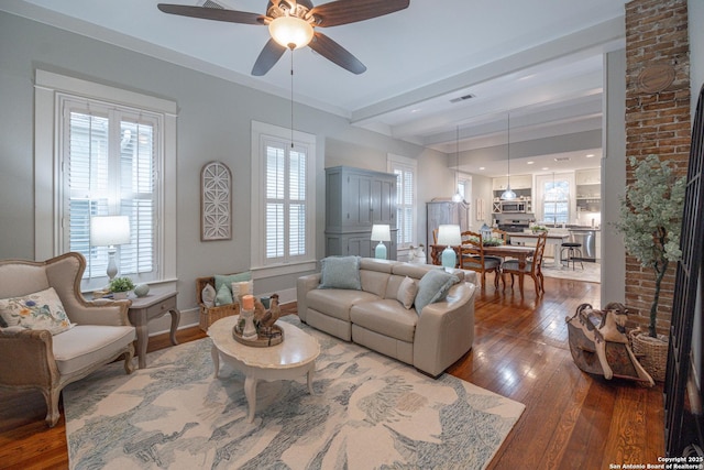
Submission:
[[[626,251],[654,275],[648,334],[631,334],[634,352],[656,380],[664,380],[668,338],[657,332],[658,304],[662,280],[670,262],[681,256],[680,232],[685,178],[676,177],[669,162],[648,155],[640,162],[631,156],[635,182],[626,187],[620,200],[620,217],[615,223],[624,234]]]

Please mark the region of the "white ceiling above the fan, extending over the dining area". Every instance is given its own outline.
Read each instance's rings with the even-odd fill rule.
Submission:
[[[254,13],[265,13],[267,3],[216,1]],[[519,143],[601,129],[603,53],[623,46],[626,2],[410,0],[396,13],[320,29],[367,70],[353,75],[308,47],[296,51],[295,100],[451,156],[459,127],[461,168],[471,173],[506,173],[507,152],[498,149],[507,140],[507,116],[512,173],[528,161],[531,173],[598,166],[598,146],[527,155]],[[157,3],[3,0],[0,10],[290,97],[288,53],[265,76],[250,75],[266,28],[176,17]],[[474,98],[451,102],[466,95]],[[495,145],[494,155],[482,152]],[[587,153],[594,160],[584,161]]]

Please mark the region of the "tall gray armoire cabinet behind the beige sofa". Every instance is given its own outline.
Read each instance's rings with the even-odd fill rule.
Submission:
[[[387,258],[396,259],[396,175],[351,166],[326,168],[326,255],[374,256],[372,226],[391,226]]]

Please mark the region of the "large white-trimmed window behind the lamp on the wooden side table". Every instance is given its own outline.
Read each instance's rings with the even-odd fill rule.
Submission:
[[[117,250],[120,275],[173,280],[175,220],[163,215],[175,207],[175,103],[43,70],[36,83],[36,194],[45,181],[56,187],[51,200],[37,196],[37,259],[79,252],[81,287],[103,286],[108,247],[91,244],[90,219],[121,215],[130,242]]]

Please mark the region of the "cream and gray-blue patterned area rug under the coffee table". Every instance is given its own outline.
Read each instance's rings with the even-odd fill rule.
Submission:
[[[246,422],[244,376],[210,338],[113,363],[64,391],[72,469],[483,469],[525,406],[290,321],[318,339],[315,394],[261,382]],[[279,320],[280,321],[280,320]]]

